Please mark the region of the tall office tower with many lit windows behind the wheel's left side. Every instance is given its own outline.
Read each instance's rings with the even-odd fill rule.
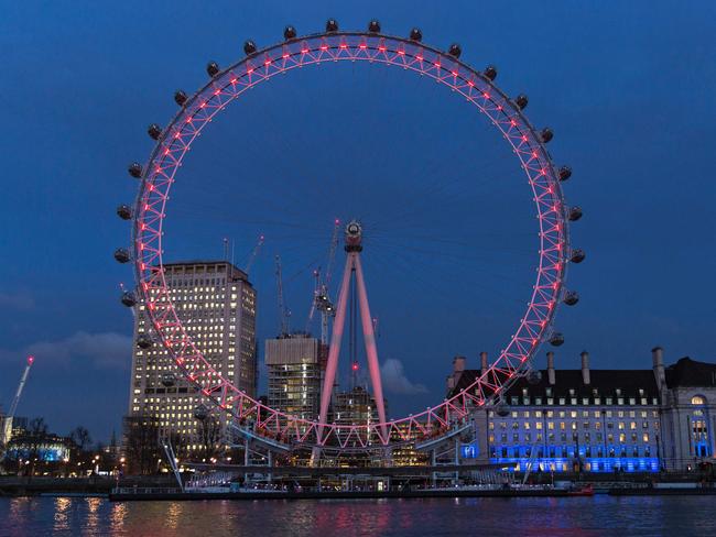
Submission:
[[[254,396],[257,294],[247,274],[225,261],[171,263],[164,270],[172,303],[196,347],[216,371]],[[160,436],[171,436],[175,449],[200,450],[207,427],[194,416],[202,403],[198,388],[177,374],[156,339],[149,349],[137,346],[139,337],[153,330],[144,305],[140,303],[135,313],[129,415],[158,418]],[[224,431],[226,417],[217,418]]]

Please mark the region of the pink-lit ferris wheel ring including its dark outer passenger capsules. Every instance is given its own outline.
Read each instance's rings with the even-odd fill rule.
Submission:
[[[419,29],[413,29],[408,37],[387,35],[376,20],[366,32],[341,31],[333,19],[327,21],[325,32],[305,36],[286,26],[283,42],[258,48],[247,41],[243,52],[242,59],[224,69],[209,63],[206,68],[209,80],[194,95],[183,91],[174,95],[180,107],[176,116],[164,128],[149,127],[148,133],[156,143],[147,164],[129,166],[129,174],[140,180],[135,202],[133,207],[118,208],[119,217],[132,222],[132,246],[131,251],[117,250],[115,256],[121,263],[133,262],[139,293],[139,296],[123,293],[122,303],[144,304],[156,339],[163,343],[176,370],[219,412],[227,413],[237,424],[251,423],[252,434],[267,441],[294,447],[333,446],[338,450],[389,447],[446,434],[468,420],[475,408],[498,404],[502,393],[519,376],[534,375],[530,363],[540,346],[564,342],[553,321],[561,304],[573,306],[578,302],[577,293],[565,288],[565,277],[568,265],[581,263],[585,253],[569,244],[569,222],[582,217],[582,210],[567,206],[563,196],[562,183],[569,178],[572,171],[553,163],[546,150],[553,132],[549,128],[538,129],[528,120],[527,96],[508,97],[495,84],[497,69],[488,66],[477,70],[468,66],[460,59],[459,45],[453,44],[447,51],[426,45]],[[400,419],[388,419],[383,412],[377,423],[361,425],[332,424],[325,414],[316,420],[285,414],[250,397],[221,375],[185,329],[172,303],[163,261],[163,224],[170,190],[180,179],[178,171],[187,151],[213,118],[245,91],[260,87],[276,75],[337,62],[399,67],[434,79],[452,90],[446,96],[457,96],[473,105],[519,161],[531,187],[539,226],[539,263],[532,293],[525,297],[527,307],[516,320],[513,335],[488,369],[469,386],[436,406]]]

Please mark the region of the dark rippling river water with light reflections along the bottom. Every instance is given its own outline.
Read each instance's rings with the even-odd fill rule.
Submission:
[[[0,536],[716,536],[716,496],[127,502],[0,497]]]

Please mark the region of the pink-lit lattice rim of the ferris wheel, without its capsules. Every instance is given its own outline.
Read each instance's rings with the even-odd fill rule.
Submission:
[[[273,62],[271,57],[282,57],[282,61]],[[540,224],[541,259],[532,297],[510,342],[491,366],[470,386],[435,407],[405,418],[382,418],[379,424],[362,426],[338,426],[325,419],[303,420],[269,408],[239,391],[211,368],[193,343],[174,309],[161,270],[164,207],[176,172],[196,136],[216,113],[245,90],[278,74],[326,59],[400,66],[434,78],[467,98],[501,131],[520,158],[533,190]],[[149,306],[152,325],[180,370],[207,398],[226,408],[224,412],[237,420],[257,419],[259,428],[272,438],[346,449],[354,445],[358,449],[367,448],[376,440],[389,445],[395,438],[406,439],[414,431],[434,435],[465,419],[470,407],[482,406],[502,392],[536,352],[539,342],[549,336],[564,281],[563,255],[568,250],[564,201],[554,165],[530,123],[507,96],[479,72],[447,54],[421,43],[377,34],[336,32],[310,36],[297,43],[282,43],[267,50],[261,69],[254,70],[249,61],[243,59],[218,75],[182,109],[164,132],[173,134],[159,140],[150,165],[145,167],[151,172],[140,187],[141,202],[134,228],[139,288]]]

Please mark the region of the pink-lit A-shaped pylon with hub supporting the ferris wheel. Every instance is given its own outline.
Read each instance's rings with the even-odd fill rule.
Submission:
[[[325,424],[328,419],[328,406],[333,394],[333,385],[336,380],[336,370],[338,369],[338,354],[340,353],[340,341],[343,339],[344,327],[346,324],[346,306],[348,303],[348,293],[350,278],[356,276],[356,289],[358,292],[358,306],[360,308],[360,321],[366,343],[366,357],[368,358],[368,371],[370,372],[370,383],[373,388],[376,406],[378,407],[378,419],[381,424],[381,435],[386,436],[386,405],[383,401],[383,387],[380,380],[380,363],[378,362],[378,348],[376,347],[376,335],[373,331],[373,321],[370,316],[368,305],[368,294],[366,293],[366,282],[360,264],[360,252],[362,251],[362,229],[360,223],[351,221],[346,226],[346,245],[348,253],[346,257],[346,267],[343,273],[340,292],[338,294],[338,306],[336,308],[336,320],[333,325],[330,335],[330,348],[328,350],[328,363],[326,365],[326,375],[323,382],[321,393],[321,414],[318,421]],[[318,441],[323,441],[323,427],[318,427]]]

